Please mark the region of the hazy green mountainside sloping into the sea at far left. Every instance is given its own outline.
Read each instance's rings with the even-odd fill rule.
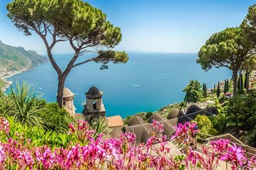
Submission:
[[[8,75],[8,72],[32,69],[47,61],[46,57],[40,56],[32,50],[23,47],[6,45],[0,40],[0,71]],[[0,77],[3,75],[0,75]]]

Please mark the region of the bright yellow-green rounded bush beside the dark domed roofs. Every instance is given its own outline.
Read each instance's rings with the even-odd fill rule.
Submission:
[[[217,130],[213,128],[213,124],[210,119],[205,115],[197,115],[195,118],[198,128],[200,129],[200,133],[216,135]],[[199,134],[201,138],[207,138],[207,135]]]

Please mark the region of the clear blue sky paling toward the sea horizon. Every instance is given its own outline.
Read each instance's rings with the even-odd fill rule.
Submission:
[[[0,40],[46,54],[38,35],[24,36],[7,18],[5,6],[9,2],[0,0]],[[121,28],[122,42],[115,49],[128,52],[197,52],[214,32],[239,25],[247,8],[255,3],[250,0],[87,2],[100,8],[110,22]],[[60,43],[53,49],[53,53],[71,52],[67,43]]]

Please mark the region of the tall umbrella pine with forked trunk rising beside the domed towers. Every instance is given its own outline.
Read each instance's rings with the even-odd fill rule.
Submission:
[[[122,39],[121,30],[114,27],[106,15],[99,9],[82,0],[14,0],[7,5],[7,16],[24,35],[34,31],[46,45],[47,55],[58,75],[57,103],[63,105],[63,88],[70,71],[87,62],[102,63],[101,69],[107,69],[108,63],[125,63],[125,52],[109,50]],[[61,70],[52,55],[53,47],[61,41],[67,41],[74,51],[72,59]],[[76,62],[85,53],[95,53],[94,57]]]

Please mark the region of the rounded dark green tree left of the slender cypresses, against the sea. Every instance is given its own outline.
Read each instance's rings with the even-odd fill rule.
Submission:
[[[201,85],[197,80],[191,80],[187,87],[184,88],[185,92],[184,101],[196,103],[201,97]]]

